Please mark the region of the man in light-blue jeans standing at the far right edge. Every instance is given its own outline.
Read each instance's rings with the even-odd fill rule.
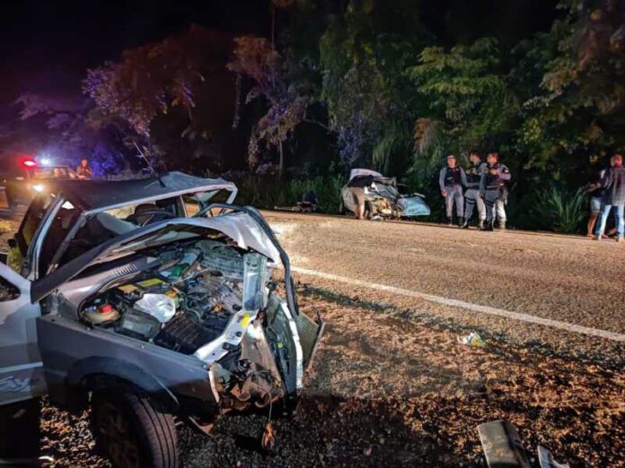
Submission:
[[[601,215],[597,230],[594,233],[594,240],[601,240],[605,231],[605,223],[608,215],[614,207],[614,219],[616,220],[616,241],[621,242],[625,235],[623,225],[623,207],[625,206],[625,168],[623,168],[623,157],[615,154],[610,160],[612,167],[603,176],[603,198],[601,204]]]

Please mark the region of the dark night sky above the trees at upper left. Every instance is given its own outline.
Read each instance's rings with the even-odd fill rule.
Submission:
[[[86,68],[124,48],[198,23],[234,32],[268,30],[264,0],[16,1],[3,5],[0,102],[23,91],[75,91]]]

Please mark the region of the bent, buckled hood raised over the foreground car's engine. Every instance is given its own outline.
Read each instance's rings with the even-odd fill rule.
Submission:
[[[220,232],[232,238],[238,247],[259,252],[274,263],[280,261],[277,248],[267,234],[260,229],[258,223],[246,213],[233,212],[213,218],[175,218],[155,222],[145,228],[112,238],[98,247],[93,247],[56,271],[33,282],[31,300],[37,302],[45,298],[58,286],[70,281],[92,264],[108,262],[146,247],[159,247],[209,232]]]

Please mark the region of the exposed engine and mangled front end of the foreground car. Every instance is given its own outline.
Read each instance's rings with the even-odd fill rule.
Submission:
[[[264,407],[285,380],[301,386],[303,361],[288,339],[296,324],[268,292],[267,256],[211,238],[146,254],[145,268],[84,301],[81,321],[203,360],[222,411]]]

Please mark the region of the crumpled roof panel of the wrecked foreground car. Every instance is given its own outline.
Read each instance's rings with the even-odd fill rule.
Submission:
[[[117,204],[140,202],[159,196],[173,196],[192,190],[236,190],[232,182],[221,178],[197,178],[182,172],[166,172],[160,177],[132,180],[55,180],[58,192],[80,202],[86,210]]]

